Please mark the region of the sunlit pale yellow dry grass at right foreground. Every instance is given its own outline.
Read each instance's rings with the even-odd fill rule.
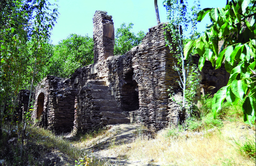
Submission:
[[[237,142],[248,138],[254,141],[255,131],[240,129],[242,121],[225,122],[224,127],[204,136],[166,137],[168,130],[162,130],[156,139],[140,136],[134,142],[119,148],[120,156],[131,160],[149,162],[154,160],[163,165],[255,165],[255,160],[248,159],[239,153]]]

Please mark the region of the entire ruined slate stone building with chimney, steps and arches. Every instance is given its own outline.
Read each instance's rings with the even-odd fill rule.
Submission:
[[[32,118],[55,132],[130,122],[157,130],[177,125],[179,105],[167,89],[180,89],[179,75],[173,69],[177,60],[166,46],[164,24],[150,28],[139,46],[119,56],[113,53],[112,16],[96,11],[93,26],[94,63],[76,69],[70,78],[45,77],[34,91]],[[215,70],[205,62],[200,79],[217,91],[228,77],[224,67]]]

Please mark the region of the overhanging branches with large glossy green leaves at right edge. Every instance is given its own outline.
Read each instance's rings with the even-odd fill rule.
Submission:
[[[252,125],[255,122],[255,1],[227,0],[225,8],[201,10],[197,20],[201,21],[207,13],[212,24],[206,27],[202,37],[186,44],[185,58],[195,46],[200,55],[200,70],[206,58],[216,69],[224,62],[230,77],[227,86],[213,97],[214,118],[225,99],[232,105],[241,100],[244,122]],[[218,48],[220,41],[223,44]]]

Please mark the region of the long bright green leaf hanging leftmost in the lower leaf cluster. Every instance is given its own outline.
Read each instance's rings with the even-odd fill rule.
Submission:
[[[212,112],[213,118],[216,118],[216,113],[221,109],[221,105],[226,98],[227,86],[220,88],[217,93],[215,93],[212,99]]]

